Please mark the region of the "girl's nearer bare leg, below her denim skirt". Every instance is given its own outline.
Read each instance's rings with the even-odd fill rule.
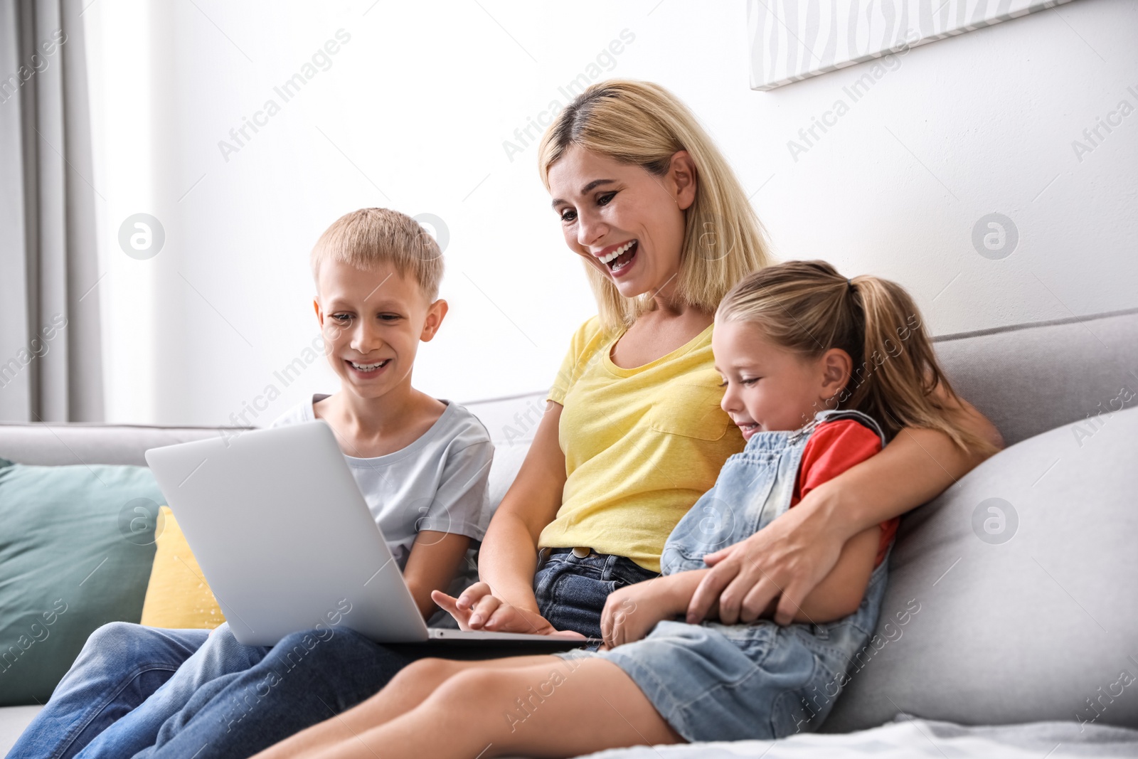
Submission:
[[[682,743],[624,670],[603,659],[475,662],[414,709],[305,759],[576,757]],[[371,702],[362,704],[366,707]],[[374,725],[376,721],[373,720]]]

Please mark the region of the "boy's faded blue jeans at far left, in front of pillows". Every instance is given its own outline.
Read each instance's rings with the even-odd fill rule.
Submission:
[[[132,757],[206,683],[220,688],[267,649],[241,645],[222,625],[158,629],[112,622],[88,638],[71,671],[9,759]],[[183,666],[184,662],[184,666]]]

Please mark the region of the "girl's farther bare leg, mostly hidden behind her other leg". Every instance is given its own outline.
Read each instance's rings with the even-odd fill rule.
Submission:
[[[411,711],[439,684],[461,671],[486,667],[498,669],[533,667],[550,659],[556,661],[555,657],[543,655],[508,657],[484,661],[420,659],[407,665],[382,691],[363,703],[265,749],[254,759],[310,756],[332,745],[354,741],[356,735]]]

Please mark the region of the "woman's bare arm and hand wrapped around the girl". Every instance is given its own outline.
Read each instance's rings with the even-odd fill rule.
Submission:
[[[937,393],[960,428],[1003,445],[980,412]],[[712,569],[692,596],[687,621],[700,621],[717,602],[720,621],[753,621],[777,597],[774,619],[790,624],[850,538],[926,503],[983,459],[965,453],[942,432],[901,430],[881,453],[814,488],[765,529],[708,554],[704,561]]]

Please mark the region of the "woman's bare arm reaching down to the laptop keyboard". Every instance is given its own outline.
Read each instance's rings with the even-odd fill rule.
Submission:
[[[521,471],[490,519],[478,559],[483,581],[457,601],[459,609],[475,612],[472,629],[553,632],[537,609],[534,574],[537,538],[556,517],[566,485],[566,457],[558,440],[560,421],[561,404],[549,402]]]

